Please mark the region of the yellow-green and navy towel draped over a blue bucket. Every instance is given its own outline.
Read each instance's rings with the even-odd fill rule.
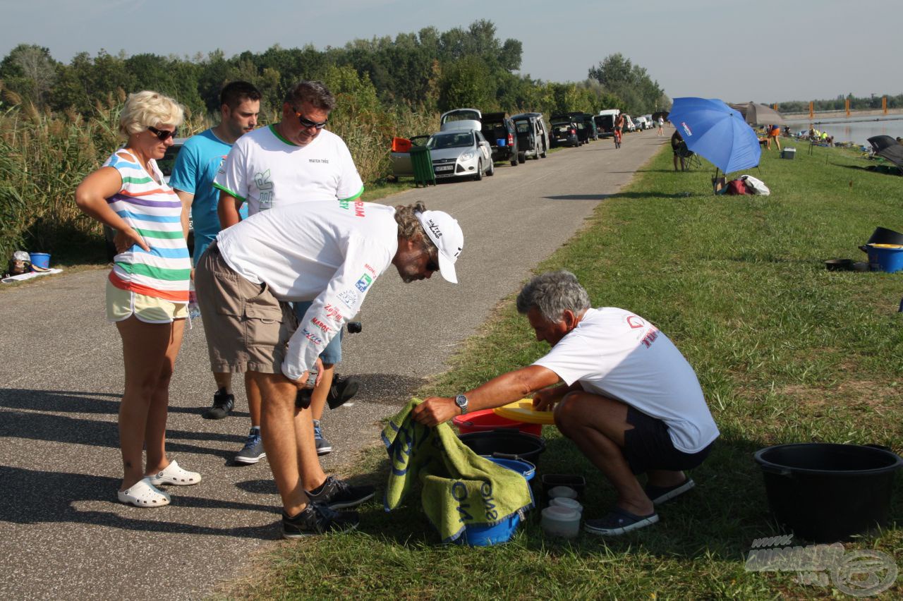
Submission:
[[[434,428],[417,423],[412,399],[383,430],[392,470],[386,485],[386,511],[395,509],[419,479],[424,512],[451,542],[471,524],[492,526],[533,507],[526,478],[481,458],[464,445],[447,423]]]

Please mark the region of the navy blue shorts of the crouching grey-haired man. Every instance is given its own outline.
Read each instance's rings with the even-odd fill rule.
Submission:
[[[627,408],[627,421],[632,430],[624,432],[624,448],[621,452],[627,459],[630,471],[645,474],[650,469],[684,471],[698,467],[712,451],[714,441],[708,447],[695,453],[684,453],[675,448],[664,421],[657,420],[633,407]]]

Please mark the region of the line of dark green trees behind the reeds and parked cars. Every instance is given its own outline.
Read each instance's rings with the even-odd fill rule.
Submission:
[[[245,79],[260,88],[264,106],[280,106],[301,79],[323,79],[328,69],[353,69],[380,104],[437,112],[460,106],[482,110],[596,112],[620,108],[632,114],[670,106],[646,69],[614,54],[588,69],[581,82],[554,82],[520,74],[522,43],[500,40],[486,20],[439,32],[425,27],[395,38],[354,40],[342,48],[222,51],[194,57],[100,51],[80,52],[63,63],[47,48],[20,44],[0,61],[5,89],[44,109],[91,116],[117,90],[154,89],[177,98],[194,113],[218,109],[219,88]]]

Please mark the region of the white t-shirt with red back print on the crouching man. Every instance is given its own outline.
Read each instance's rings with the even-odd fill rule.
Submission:
[[[624,402],[664,421],[675,448],[695,453],[718,438],[693,367],[646,319],[614,307],[590,309],[535,362],[566,384]]]

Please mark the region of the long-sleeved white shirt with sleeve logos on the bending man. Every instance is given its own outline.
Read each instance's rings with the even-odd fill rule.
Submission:
[[[246,134],[247,135],[247,134]],[[313,301],[289,340],[283,374],[297,380],[358,313],[398,250],[395,209],[303,202],[261,211],[219,232],[219,254],[280,301]]]

